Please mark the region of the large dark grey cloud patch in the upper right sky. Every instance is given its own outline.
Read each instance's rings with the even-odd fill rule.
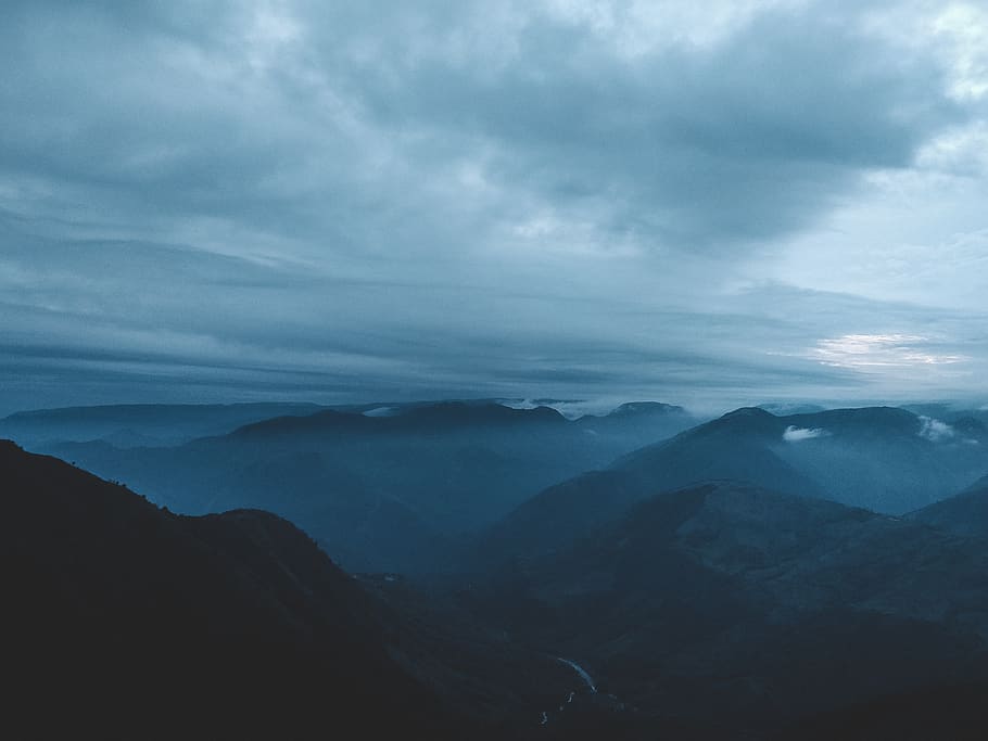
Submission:
[[[356,68],[352,87],[390,124],[489,144],[502,182],[562,210],[606,201],[605,226],[662,246],[802,227],[863,169],[908,166],[962,117],[936,68],[876,44],[853,18],[772,12],[713,50],[631,60],[611,39],[537,16],[512,41],[493,71],[451,63],[442,44],[396,44],[397,60]]]

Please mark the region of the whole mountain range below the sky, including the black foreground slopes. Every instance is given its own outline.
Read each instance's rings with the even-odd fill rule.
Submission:
[[[980,419],[776,411],[367,405],[35,444],[115,481],[2,443],[7,715],[35,737],[981,738]]]

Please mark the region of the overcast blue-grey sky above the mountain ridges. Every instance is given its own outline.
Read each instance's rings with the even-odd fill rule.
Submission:
[[[2,16],[0,413],[988,401],[988,3]]]

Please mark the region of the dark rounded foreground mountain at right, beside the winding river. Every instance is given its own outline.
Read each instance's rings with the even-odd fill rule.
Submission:
[[[986,567],[984,548],[921,524],[711,482],[517,559],[473,596],[575,657],[651,738],[753,739],[984,680]]]

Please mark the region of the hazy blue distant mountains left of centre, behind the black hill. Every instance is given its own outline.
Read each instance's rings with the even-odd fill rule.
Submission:
[[[364,412],[279,417],[169,448],[38,449],[178,512],[273,511],[350,571],[410,573],[459,567],[473,534],[543,488],[695,423],[666,405],[578,421],[481,401]]]

